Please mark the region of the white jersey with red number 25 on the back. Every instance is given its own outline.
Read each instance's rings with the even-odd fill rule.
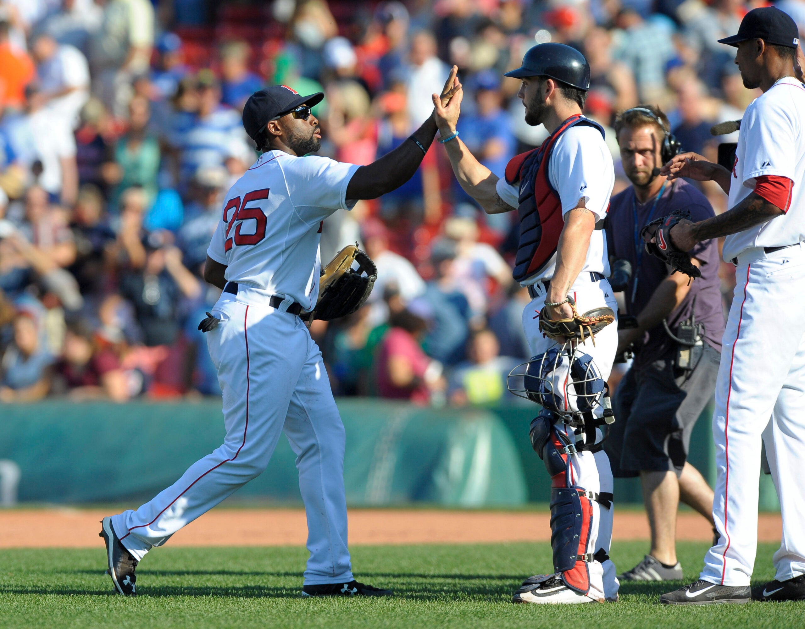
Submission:
[[[228,282],[292,298],[312,310],[319,297],[324,219],[352,209],[347,186],[359,166],[318,155],[263,153],[229,189],[207,255]]]

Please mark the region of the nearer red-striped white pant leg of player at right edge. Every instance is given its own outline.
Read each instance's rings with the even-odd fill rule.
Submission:
[[[799,249],[794,253],[803,257]],[[803,308],[792,303],[792,297],[805,294],[805,282],[788,282],[787,277],[779,282],[769,275],[778,265],[779,260],[765,259],[737,267],[722,343],[712,421],[717,472],[713,519],[720,539],[704,557],[701,578],[725,586],[748,586],[752,576],[762,432],[805,327]]]

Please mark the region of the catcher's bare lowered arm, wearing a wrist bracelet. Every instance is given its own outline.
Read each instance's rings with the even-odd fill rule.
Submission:
[[[545,301],[558,303],[568,297],[568,291],[584,269],[587,249],[590,246],[592,231],[596,228],[596,215],[584,207],[584,199],[579,199],[576,208],[564,215],[564,227],[556,247],[556,268],[551,277]],[[564,319],[573,316],[568,304],[545,306],[549,319]]]

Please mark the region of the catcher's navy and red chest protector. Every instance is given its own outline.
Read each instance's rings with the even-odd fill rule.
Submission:
[[[564,227],[562,201],[548,180],[548,162],[557,140],[574,125],[594,126],[604,135],[601,125],[576,114],[564,121],[539,149],[516,155],[506,166],[506,183],[520,183],[517,210],[520,242],[514,261],[516,282],[543,270],[559,244],[559,234]]]

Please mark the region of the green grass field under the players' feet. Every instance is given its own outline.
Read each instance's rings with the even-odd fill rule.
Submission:
[[[646,542],[613,545],[627,569]],[[705,544],[681,543],[696,578]],[[772,545],[758,550],[755,578],[773,578]],[[0,627],[803,627],[805,603],[669,607],[667,585],[625,584],[607,605],[512,605],[523,576],[546,571],[549,546],[358,546],[359,580],[394,598],[300,598],[301,548],[158,549],[138,569],[137,598],[111,592],[102,546],[0,551]],[[675,584],[674,584],[675,585]]]

